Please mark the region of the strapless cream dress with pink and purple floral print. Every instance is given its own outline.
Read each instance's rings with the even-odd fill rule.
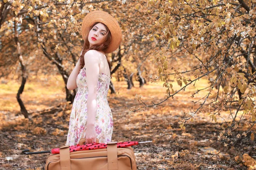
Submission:
[[[107,95],[111,77],[100,73],[97,89],[97,113],[95,117],[96,138],[100,143],[111,141],[113,132],[113,117],[108,105]],[[70,114],[69,130],[66,145],[76,145],[85,138],[87,124],[87,97],[88,88],[86,83],[85,68],[82,68],[76,77],[78,91],[73,102]]]

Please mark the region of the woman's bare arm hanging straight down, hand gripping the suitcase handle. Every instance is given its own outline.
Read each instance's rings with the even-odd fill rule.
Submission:
[[[87,98],[87,130],[86,143],[96,142],[95,117],[97,113],[97,89],[99,79],[100,55],[96,50],[89,50],[84,55],[86,68]]]

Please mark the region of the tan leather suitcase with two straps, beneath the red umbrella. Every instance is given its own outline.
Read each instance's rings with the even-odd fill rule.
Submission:
[[[50,154],[45,170],[137,170],[132,147],[117,148],[116,142],[107,149],[71,152],[69,146],[60,147],[59,154]]]

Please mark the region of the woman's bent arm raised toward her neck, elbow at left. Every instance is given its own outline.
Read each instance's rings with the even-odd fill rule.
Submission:
[[[77,88],[76,77],[79,74],[80,70],[81,70],[81,65],[80,65],[80,58],[79,58],[78,62],[76,63],[75,68],[73,69],[70,76],[68,77],[68,80],[67,80],[67,89],[68,90],[74,90],[75,88]]]

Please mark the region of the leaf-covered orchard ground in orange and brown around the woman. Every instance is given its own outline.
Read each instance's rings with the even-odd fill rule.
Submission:
[[[247,170],[256,164],[254,142],[250,136],[242,137],[234,145],[224,147],[217,140],[223,120],[212,119],[206,113],[195,116],[182,130],[178,122],[197,106],[188,89],[164,102],[158,108],[147,108],[128,114],[129,108],[142,105],[134,99],[136,94],[150,104],[164,99],[165,89],[160,83],[144,85],[135,83],[131,90],[125,82],[114,82],[117,93],[108,94],[113,113],[112,141],[153,141],[134,146],[138,170]],[[30,119],[19,115],[15,100],[18,83],[3,81],[0,92],[0,169],[44,170],[49,154],[22,155],[21,151],[50,150],[65,145],[72,105],[65,102],[61,78],[33,80],[27,83],[22,99]],[[46,90],[47,89],[47,90]],[[203,94],[201,94],[203,95]],[[228,119],[228,114],[221,115]],[[248,155],[246,155],[246,153]],[[251,167],[252,168],[252,167]]]

